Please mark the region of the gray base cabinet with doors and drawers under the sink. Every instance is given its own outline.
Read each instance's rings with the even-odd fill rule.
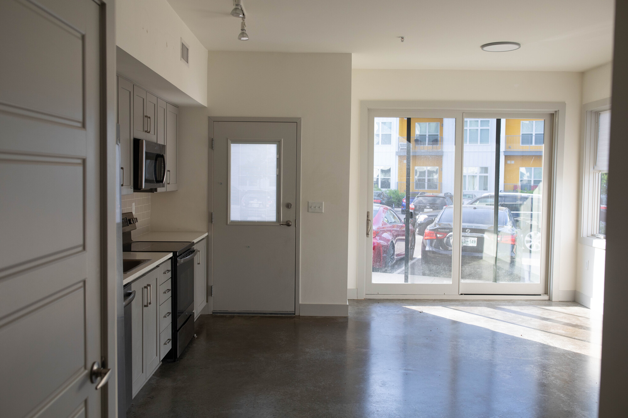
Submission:
[[[170,276],[163,274],[165,268],[170,268],[170,260],[160,264],[131,283],[131,290],[135,291],[135,298],[131,302],[131,369],[133,380],[133,396],[142,389],[146,380],[153,375],[163,358],[161,348],[162,321],[160,318],[161,303],[167,306],[171,303],[162,301],[160,295],[165,289],[161,288],[161,281]],[[170,273],[170,271],[168,271]],[[171,291],[166,294],[171,295]],[[160,303],[161,302],[161,303]],[[171,311],[171,310],[170,310]],[[171,315],[168,315],[171,317]],[[171,318],[170,318],[171,320]],[[165,353],[163,353],[165,355]]]

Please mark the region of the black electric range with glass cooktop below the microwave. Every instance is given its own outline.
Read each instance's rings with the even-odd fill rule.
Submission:
[[[172,253],[172,348],[166,358],[177,360],[194,335],[194,243],[133,241],[133,213],[122,214],[122,251]]]

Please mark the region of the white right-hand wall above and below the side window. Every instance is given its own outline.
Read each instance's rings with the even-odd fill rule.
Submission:
[[[586,71],[582,78],[582,104],[610,97],[612,63]],[[581,141],[585,140],[584,133]],[[582,177],[582,173],[580,174]],[[592,240],[578,241],[575,300],[587,308],[602,310],[604,306],[605,246]]]

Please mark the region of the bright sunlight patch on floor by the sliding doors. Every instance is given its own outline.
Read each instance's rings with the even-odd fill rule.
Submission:
[[[487,328],[512,337],[562,348],[600,358],[601,332],[589,310],[577,306],[548,309],[549,306],[404,306],[452,321]],[[597,318],[596,318],[597,319]],[[601,323],[600,323],[601,325]]]

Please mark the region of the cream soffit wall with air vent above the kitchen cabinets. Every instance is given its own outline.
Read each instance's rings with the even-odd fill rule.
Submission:
[[[181,61],[181,38],[190,46],[189,66]],[[116,44],[207,106],[207,50],[168,1],[117,1]]]

